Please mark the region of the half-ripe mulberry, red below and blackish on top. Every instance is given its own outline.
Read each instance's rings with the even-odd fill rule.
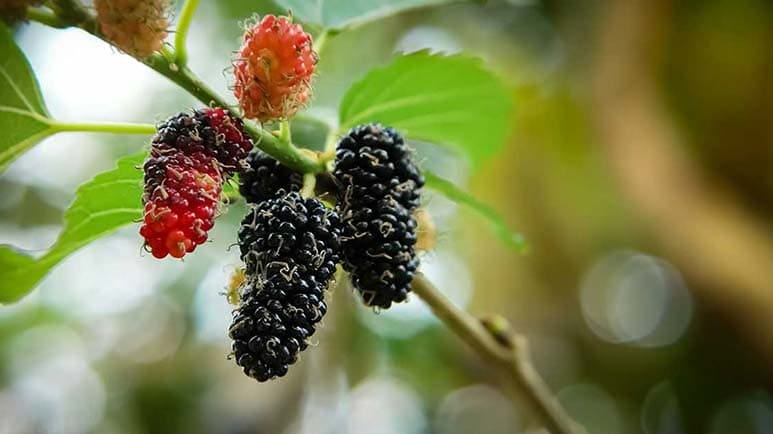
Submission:
[[[144,164],[140,234],[153,256],[182,258],[207,240],[223,181],[252,148],[225,110],[180,113],[162,122]]]

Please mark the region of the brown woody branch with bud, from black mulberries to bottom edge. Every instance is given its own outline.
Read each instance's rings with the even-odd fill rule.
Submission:
[[[507,375],[511,384],[523,392],[550,432],[585,433],[561,407],[532,365],[526,338],[513,333],[504,318],[479,321],[454,306],[421,273],[413,278],[412,289],[448,328]]]

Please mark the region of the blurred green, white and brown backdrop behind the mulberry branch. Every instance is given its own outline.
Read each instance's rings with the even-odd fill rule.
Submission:
[[[226,93],[237,22],[282,11],[201,3],[191,66]],[[56,118],[152,123],[198,106],[83,32],[29,24],[16,38]],[[772,41],[767,0],[416,10],[329,40],[310,112],[334,122],[348,86],[395,52],[485,59],[517,107],[504,151],[472,173],[415,145],[531,250],[507,250],[429,193],[440,229],[424,272],[525,333],[589,433],[773,433]],[[320,146],[307,130],[298,137]],[[75,188],[146,141],[69,134],[35,147],[0,175],[0,243],[43,253]],[[0,433],[543,432],[420,300],[377,314],[346,282],[289,375],[245,377],[226,358],[222,295],[244,212],[231,207],[185,262],[142,254],[126,228],[0,307]]]

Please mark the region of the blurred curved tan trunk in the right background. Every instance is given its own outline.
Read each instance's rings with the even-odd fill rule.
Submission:
[[[661,99],[657,71],[671,7],[664,0],[606,3],[593,66],[594,121],[625,197],[696,296],[773,361],[770,227],[686,155]]]

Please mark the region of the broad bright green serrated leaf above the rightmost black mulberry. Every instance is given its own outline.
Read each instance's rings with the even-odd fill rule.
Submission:
[[[381,122],[410,139],[448,145],[473,167],[505,144],[510,92],[477,59],[421,51],[374,69],[341,102],[341,131]]]

